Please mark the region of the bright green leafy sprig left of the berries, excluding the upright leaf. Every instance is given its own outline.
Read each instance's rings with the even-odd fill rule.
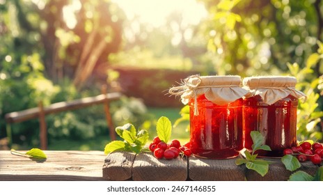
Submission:
[[[107,155],[116,150],[125,150],[139,154],[149,138],[146,130],[137,131],[134,125],[130,123],[116,127],[116,133],[124,140],[108,143],[104,148],[104,154]]]

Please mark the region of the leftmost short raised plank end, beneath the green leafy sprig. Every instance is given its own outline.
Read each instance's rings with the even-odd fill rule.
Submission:
[[[104,160],[103,178],[113,181],[129,180],[132,178],[132,164],[135,157],[135,153],[110,153]]]

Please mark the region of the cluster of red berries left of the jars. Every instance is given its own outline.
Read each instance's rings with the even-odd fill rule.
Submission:
[[[163,157],[165,159],[175,159],[180,154],[189,157],[191,156],[191,149],[189,149],[188,144],[185,145],[181,146],[180,141],[177,139],[173,139],[170,143],[165,143],[159,137],[155,137],[149,145],[149,150],[154,153],[157,159],[162,159]]]

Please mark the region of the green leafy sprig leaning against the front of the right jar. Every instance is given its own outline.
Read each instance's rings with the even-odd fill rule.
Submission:
[[[257,150],[269,150],[271,151],[270,147],[263,144],[265,142],[264,137],[258,131],[251,132],[251,139],[253,140],[252,153],[249,150],[244,151],[245,158],[238,158],[235,161],[235,164],[242,165],[246,164],[247,169],[252,169],[259,173],[262,177],[268,173],[269,164],[270,162],[265,159],[258,159],[258,154],[255,154]]]

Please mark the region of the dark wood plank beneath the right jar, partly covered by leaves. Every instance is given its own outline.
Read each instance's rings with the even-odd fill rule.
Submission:
[[[253,170],[246,170],[246,180],[249,181],[287,181],[288,178],[290,178],[290,175],[294,173],[295,171],[288,171],[284,164],[281,162],[281,159],[274,159],[270,158],[267,159],[268,161],[273,162],[272,164],[269,164],[269,170],[268,173],[262,177],[259,173],[253,171]],[[297,169],[296,171],[305,171],[306,173],[310,174],[311,176],[314,176],[317,172],[317,169],[319,167],[313,164],[312,162],[301,162],[301,168]]]

